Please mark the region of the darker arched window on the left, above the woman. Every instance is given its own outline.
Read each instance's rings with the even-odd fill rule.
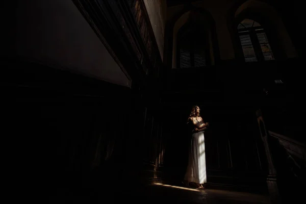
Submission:
[[[188,23],[177,33],[177,68],[203,67],[210,64],[207,32]]]

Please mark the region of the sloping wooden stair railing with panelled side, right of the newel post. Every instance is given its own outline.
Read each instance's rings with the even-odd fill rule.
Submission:
[[[268,144],[282,203],[303,197],[306,179],[306,145],[290,137],[268,131]]]

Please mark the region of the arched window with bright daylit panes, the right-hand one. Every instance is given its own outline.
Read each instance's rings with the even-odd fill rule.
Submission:
[[[258,22],[244,19],[237,29],[245,62],[274,60],[267,35]]]

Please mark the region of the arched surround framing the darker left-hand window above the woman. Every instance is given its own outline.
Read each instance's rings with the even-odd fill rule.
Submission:
[[[202,9],[197,8],[192,5],[185,6],[178,14],[176,14],[173,18],[171,18],[167,24],[166,24],[166,33],[167,33],[167,49],[168,52],[164,58],[167,58],[166,60],[166,67],[171,69],[175,65],[175,59],[176,59],[176,44],[175,44],[175,35],[177,34],[177,31],[187,22],[188,16],[190,12],[197,12],[202,15],[203,18],[205,18],[208,21],[209,29],[211,31],[211,40],[212,40],[212,50],[213,50],[213,61],[214,64],[218,63],[220,60],[220,54],[219,54],[219,46],[218,46],[218,39],[216,34],[216,25],[215,20],[212,17],[212,15]],[[174,63],[173,63],[174,62]]]

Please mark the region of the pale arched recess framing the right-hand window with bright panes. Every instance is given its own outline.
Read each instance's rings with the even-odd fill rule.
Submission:
[[[236,59],[243,59],[237,26],[245,18],[257,21],[265,28],[276,59],[297,57],[281,16],[274,7],[266,1],[240,0],[227,14],[227,25],[233,40]]]

